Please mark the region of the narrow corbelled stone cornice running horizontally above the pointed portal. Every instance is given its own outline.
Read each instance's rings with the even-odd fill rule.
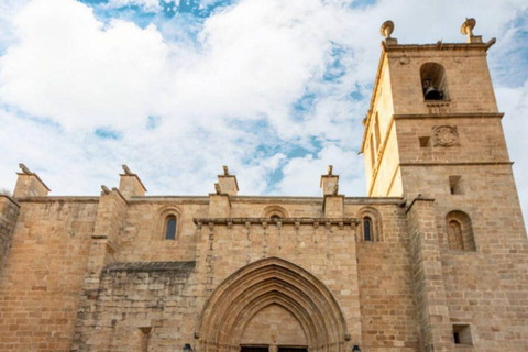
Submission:
[[[216,224],[216,226],[233,226],[233,224],[309,224],[309,226],[350,226],[355,228],[360,220],[355,218],[195,218],[196,226]]]

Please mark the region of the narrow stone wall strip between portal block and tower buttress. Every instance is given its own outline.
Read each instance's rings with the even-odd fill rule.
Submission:
[[[411,257],[405,209],[378,207],[381,242],[358,242],[362,351],[418,351]]]

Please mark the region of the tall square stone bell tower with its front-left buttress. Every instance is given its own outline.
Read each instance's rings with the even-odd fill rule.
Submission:
[[[369,196],[403,197],[422,351],[517,351],[507,336],[527,328],[507,314],[520,300],[498,298],[526,295],[528,244],[486,62],[495,38],[474,26],[465,43],[419,45],[385,22],[364,120]]]

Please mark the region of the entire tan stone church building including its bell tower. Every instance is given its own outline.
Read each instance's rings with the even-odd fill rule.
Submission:
[[[486,63],[494,40],[385,40],[369,197],[0,196],[1,351],[528,351],[528,242]]]

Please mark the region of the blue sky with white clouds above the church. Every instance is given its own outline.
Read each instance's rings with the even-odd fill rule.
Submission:
[[[52,195],[98,195],[121,164],[147,195],[365,196],[363,127],[381,53],[497,43],[488,63],[528,211],[526,0],[0,0],[0,188],[19,163]]]

